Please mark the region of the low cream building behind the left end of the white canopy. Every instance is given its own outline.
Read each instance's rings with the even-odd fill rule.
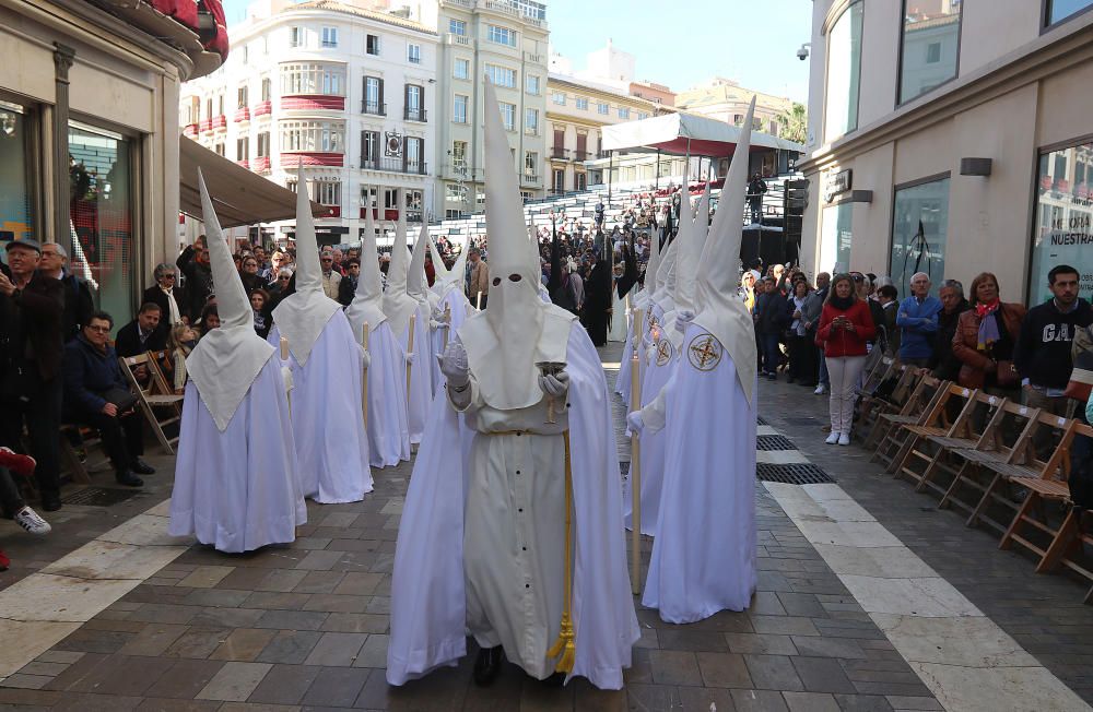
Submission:
[[[610,162],[600,139],[600,130],[604,126],[639,121],[670,110],[658,103],[574,76],[552,73],[548,76],[546,88],[546,135],[550,141],[546,178],[550,194],[586,190],[588,186],[607,181]],[[647,158],[643,157],[640,166],[632,166],[631,162],[614,166],[618,175],[613,179],[624,182],[654,180],[656,166],[647,165]],[[669,161],[665,157],[666,165],[661,166],[666,176],[672,171],[672,167],[667,165]],[[679,161],[682,174],[683,159]]]

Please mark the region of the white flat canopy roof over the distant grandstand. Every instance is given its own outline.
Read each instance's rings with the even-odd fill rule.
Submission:
[[[732,155],[740,141],[740,127],[697,114],[665,114],[639,121],[626,121],[600,129],[604,151],[651,149],[665,153],[692,156],[727,157]],[[796,151],[804,146],[768,133],[752,131],[751,150]]]

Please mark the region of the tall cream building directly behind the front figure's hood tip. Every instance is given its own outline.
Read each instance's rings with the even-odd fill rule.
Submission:
[[[497,92],[525,199],[545,193],[545,5],[530,0],[438,0],[438,217],[482,210],[483,107],[489,76]],[[423,14],[427,14],[427,10]]]

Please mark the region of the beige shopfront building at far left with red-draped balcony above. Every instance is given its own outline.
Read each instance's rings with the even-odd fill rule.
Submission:
[[[111,0],[0,4],[0,241],[64,247],[96,306],[120,323],[151,281],[150,265],[177,253],[176,107],[181,82],[227,54],[213,10],[223,17],[219,1],[201,11]]]

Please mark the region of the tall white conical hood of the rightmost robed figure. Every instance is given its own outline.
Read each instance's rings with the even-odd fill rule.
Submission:
[[[754,114],[755,98],[752,97],[740,141],[732,152],[729,175],[725,177],[721,188],[721,202],[702,250],[695,300],[697,316],[694,318],[696,324],[716,336],[729,352],[749,402],[753,400],[755,390],[755,336],[748,308],[737,296],[737,285]]]

